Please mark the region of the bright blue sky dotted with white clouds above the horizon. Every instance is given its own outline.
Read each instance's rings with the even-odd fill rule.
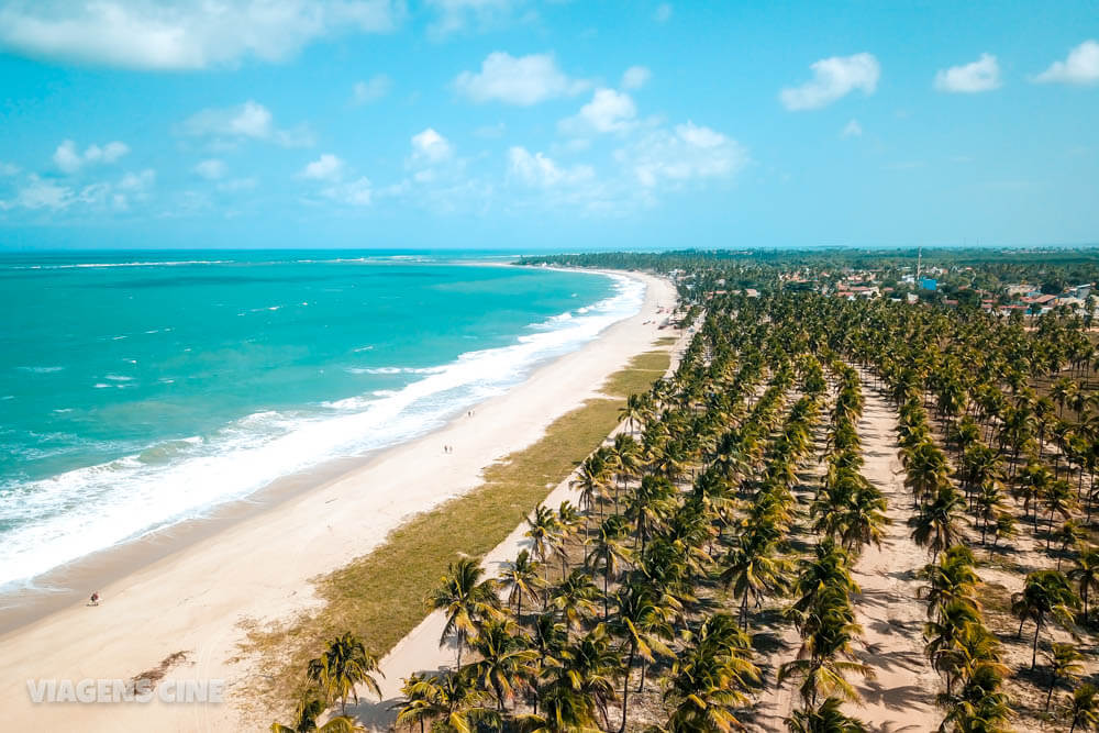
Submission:
[[[1099,2],[0,0],[0,249],[1099,242]]]

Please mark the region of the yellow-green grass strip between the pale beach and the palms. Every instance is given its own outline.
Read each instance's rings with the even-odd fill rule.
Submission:
[[[374,552],[319,579],[321,609],[275,626],[247,629],[245,656],[255,657],[248,698],[265,714],[285,709],[300,691],[308,660],[344,631],[381,656],[423,620],[424,598],[448,563],[479,557],[501,543],[618,424],[624,398],[648,389],[670,363],[666,351],[647,352],[611,375],[603,392],[562,415],[533,445],[485,471],[485,482],[418,514]],[[265,723],[266,724],[266,723]]]

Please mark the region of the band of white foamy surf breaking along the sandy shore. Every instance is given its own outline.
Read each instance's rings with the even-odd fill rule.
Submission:
[[[435,367],[391,367],[398,374],[422,375],[402,389],[371,389],[312,411],[253,413],[202,438],[151,445],[106,464],[19,486],[19,501],[0,503],[0,525],[14,527],[0,551],[0,585],[30,580],[90,553],[202,517],[281,476],[402,443],[443,425],[473,404],[502,395],[540,364],[575,351],[639,312],[644,285],[610,277],[612,297],[532,324],[509,346],[468,352]]]

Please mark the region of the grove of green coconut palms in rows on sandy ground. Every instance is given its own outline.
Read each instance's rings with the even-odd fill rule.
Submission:
[[[1083,320],[762,290],[681,288],[697,332],[578,467],[575,501],[535,508],[499,577],[452,564],[426,606],[453,665],[403,680],[399,726],[729,731],[759,724],[757,700],[784,686],[790,731],[868,730],[852,570],[898,509],[861,473],[870,390],[896,410],[907,531],[928,552],[912,602],[941,730],[1095,730]],[[800,640],[784,658],[763,647],[776,621]],[[357,730],[342,713],[377,674],[358,638],[331,640],[295,725],[273,730],[317,730],[333,704],[321,730]]]

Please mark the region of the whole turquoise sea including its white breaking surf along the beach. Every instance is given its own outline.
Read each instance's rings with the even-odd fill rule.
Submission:
[[[0,585],[392,445],[636,312],[460,256],[0,256]]]

